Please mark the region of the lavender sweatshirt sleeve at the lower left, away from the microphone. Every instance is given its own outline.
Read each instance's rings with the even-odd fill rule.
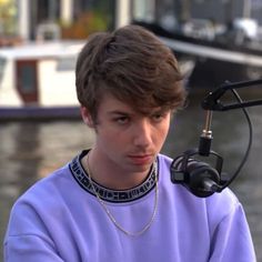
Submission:
[[[48,196],[28,193],[14,203],[3,242],[4,262],[63,261],[52,238],[59,234],[56,206],[49,205]]]

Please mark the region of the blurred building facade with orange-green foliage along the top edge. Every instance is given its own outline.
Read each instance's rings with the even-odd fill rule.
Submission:
[[[12,16],[8,22],[1,18],[7,17],[6,9]],[[261,24],[261,0],[0,0],[0,37],[11,30],[26,41],[85,38],[133,18],[174,27],[190,18],[228,23],[238,17],[251,17]]]

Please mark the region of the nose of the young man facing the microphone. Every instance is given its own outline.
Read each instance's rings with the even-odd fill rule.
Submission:
[[[152,127],[147,119],[135,123],[133,132],[135,147],[148,148],[152,143]]]

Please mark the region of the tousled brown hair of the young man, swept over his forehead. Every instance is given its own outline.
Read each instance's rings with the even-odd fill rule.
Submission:
[[[75,68],[79,102],[93,120],[108,92],[141,113],[181,108],[185,100],[181,80],[173,52],[140,26],[90,36]]]

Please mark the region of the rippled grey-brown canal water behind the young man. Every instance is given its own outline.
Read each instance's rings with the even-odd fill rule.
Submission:
[[[188,108],[173,118],[163,153],[174,158],[187,149],[198,147],[205,117],[200,107],[201,100],[202,94],[191,95]],[[258,261],[262,262],[262,107],[250,108],[249,113],[253,124],[253,145],[231,189],[243,203]],[[249,141],[244,114],[241,110],[215,112],[212,131],[212,150],[223,157],[223,170],[232,175]],[[93,133],[80,120],[0,123],[1,242],[14,200],[32,183],[70,161],[80,150],[90,148],[92,141]]]

